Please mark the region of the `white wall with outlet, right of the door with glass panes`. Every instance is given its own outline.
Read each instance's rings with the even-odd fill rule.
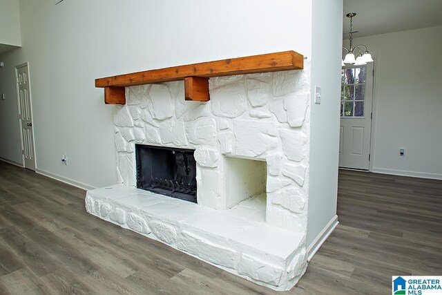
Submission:
[[[441,36],[436,26],[354,39],[377,57],[372,171],[442,179]]]

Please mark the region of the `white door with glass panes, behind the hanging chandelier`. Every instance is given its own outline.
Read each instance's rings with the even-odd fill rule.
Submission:
[[[343,67],[339,137],[341,168],[369,169],[373,76],[373,63]]]

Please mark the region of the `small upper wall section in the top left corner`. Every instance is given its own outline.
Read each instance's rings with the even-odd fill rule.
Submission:
[[[0,44],[21,46],[19,0],[0,0]]]

